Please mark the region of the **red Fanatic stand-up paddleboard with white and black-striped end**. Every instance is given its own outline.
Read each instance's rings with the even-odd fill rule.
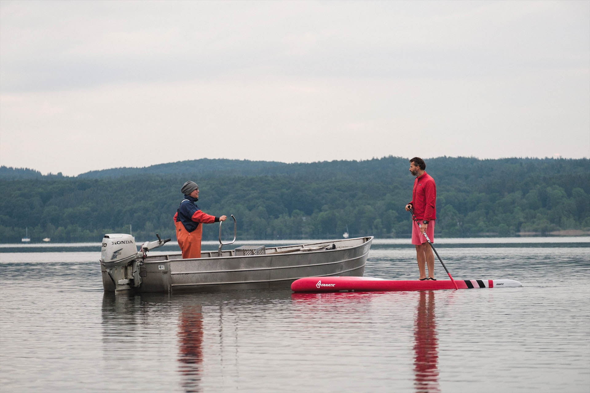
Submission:
[[[458,289],[522,286],[515,280],[455,280]],[[291,284],[293,292],[385,292],[392,290],[455,289],[451,280],[385,280],[374,277],[305,277]]]

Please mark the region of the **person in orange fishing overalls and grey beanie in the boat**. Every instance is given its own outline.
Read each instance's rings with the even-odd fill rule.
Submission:
[[[181,205],[174,214],[176,240],[182,250],[183,259],[201,257],[202,224],[225,221],[227,216],[215,217],[201,211],[196,206],[199,200],[199,186],[194,181],[182,184],[181,192],[185,194]]]

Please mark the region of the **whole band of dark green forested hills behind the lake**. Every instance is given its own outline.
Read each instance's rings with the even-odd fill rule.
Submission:
[[[278,163],[194,160],[145,168],[91,171],[77,177],[0,169],[0,242],[99,241],[129,232],[173,237],[172,216],[186,180],[199,184],[199,207],[234,214],[238,238],[297,239],[410,232],[414,177],[408,158]],[[437,236],[513,236],[590,230],[590,161],[506,158],[427,160],[437,182]],[[31,181],[35,180],[35,181]],[[228,233],[230,226],[228,227]],[[217,239],[206,225],[205,239]],[[228,235],[229,236],[229,235]]]

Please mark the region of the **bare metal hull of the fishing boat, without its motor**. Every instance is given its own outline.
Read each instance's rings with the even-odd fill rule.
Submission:
[[[263,255],[238,256],[235,250],[227,250],[222,256],[203,252],[197,259],[182,259],[179,253],[148,256],[140,262],[141,284],[136,287],[119,285],[109,264],[101,263],[103,287],[107,292],[214,292],[289,288],[294,280],[307,276],[362,276],[372,240],[359,237],[266,247]],[[323,245],[330,248],[314,250]]]

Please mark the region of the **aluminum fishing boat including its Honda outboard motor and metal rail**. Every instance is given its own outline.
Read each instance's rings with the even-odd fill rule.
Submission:
[[[233,216],[232,216],[233,217]],[[330,240],[294,246],[241,246],[201,252],[182,259],[180,252],[149,255],[170,239],[143,243],[139,250],[131,235],[104,235],[100,268],[106,292],[211,292],[229,289],[290,288],[308,276],[362,276],[373,237]]]

